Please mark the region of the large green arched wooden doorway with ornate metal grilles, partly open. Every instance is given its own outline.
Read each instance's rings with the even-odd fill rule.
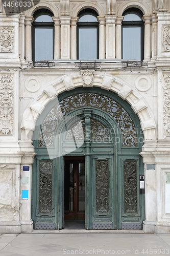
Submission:
[[[37,153],[32,176],[34,223],[52,223],[61,229],[64,213],[83,216],[79,193],[68,198],[71,188],[71,193],[83,188],[85,228],[140,228],[144,195],[139,193],[139,175],[144,169],[137,115],[126,101],[102,89],[75,89],[59,95],[58,100],[46,106],[33,137]],[[74,167],[78,158],[78,164],[85,163],[81,180],[80,165]],[[64,174],[74,178],[66,180]]]

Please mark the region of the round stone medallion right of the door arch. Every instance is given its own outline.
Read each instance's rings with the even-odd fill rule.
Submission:
[[[152,86],[152,81],[150,77],[145,75],[140,75],[135,80],[135,87],[140,92],[148,91]]]

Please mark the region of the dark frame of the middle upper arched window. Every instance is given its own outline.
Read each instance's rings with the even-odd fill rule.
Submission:
[[[82,17],[89,13],[93,16],[98,15],[92,9],[85,9],[85,10],[81,11],[78,16]],[[96,15],[94,15],[94,14],[96,14]],[[89,29],[96,28],[96,32],[97,32],[97,35],[96,35],[96,37],[97,37],[96,38],[96,44],[97,44],[96,45],[96,59],[99,59],[99,22],[78,22],[77,23],[77,59],[79,59],[79,49],[80,49],[80,47],[79,47],[79,30],[81,28],[89,28]]]

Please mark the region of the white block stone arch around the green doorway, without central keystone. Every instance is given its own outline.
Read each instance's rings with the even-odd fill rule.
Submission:
[[[156,139],[156,125],[153,113],[148,103],[142,98],[135,88],[131,87],[127,82],[110,74],[102,76],[94,74],[92,86],[100,87],[108,91],[110,90],[116,93],[119,97],[128,101],[131,108],[140,119],[144,140]],[[39,91],[31,105],[25,110],[25,112],[23,112],[23,119],[21,122],[21,140],[32,140],[36,120],[48,102],[56,98],[58,94],[64,91],[73,90],[77,87],[84,87],[82,75],[71,76],[71,74],[68,74],[62,76],[60,80],[58,79],[48,83],[46,87]]]

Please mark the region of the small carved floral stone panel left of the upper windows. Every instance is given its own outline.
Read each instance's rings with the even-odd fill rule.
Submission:
[[[0,27],[0,52],[13,52],[14,27]]]

